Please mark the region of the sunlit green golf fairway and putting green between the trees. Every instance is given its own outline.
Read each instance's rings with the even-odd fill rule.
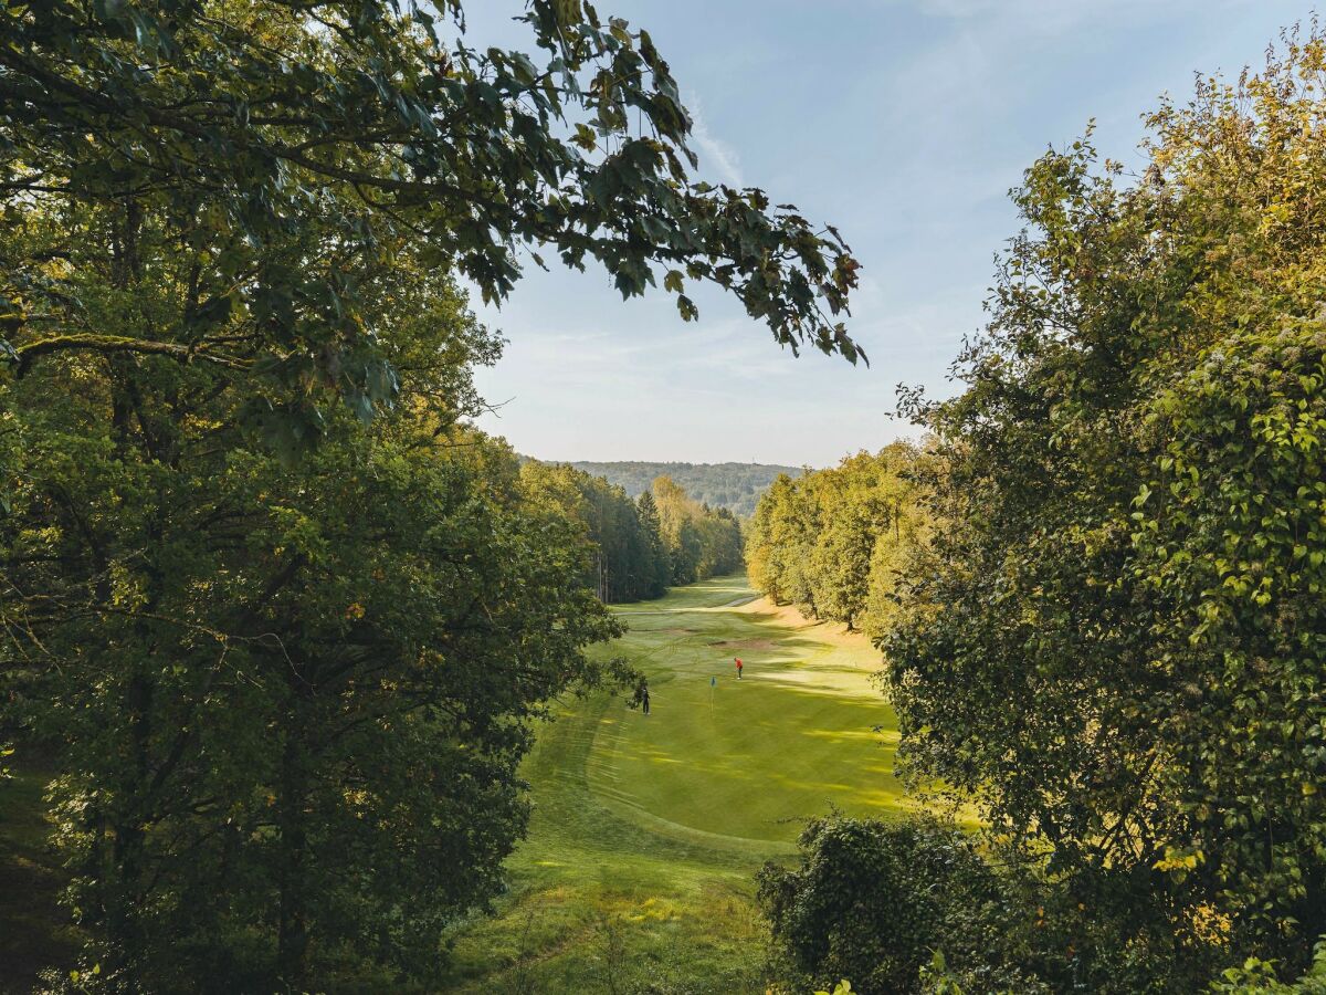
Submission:
[[[629,631],[601,651],[646,674],[651,714],[602,693],[540,731],[511,892],[457,930],[448,991],[761,992],[760,865],[830,805],[907,808],[863,637],[744,576],[615,610]]]

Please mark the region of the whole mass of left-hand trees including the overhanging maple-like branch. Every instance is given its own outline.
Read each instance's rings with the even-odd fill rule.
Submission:
[[[500,342],[461,280],[538,249],[858,356],[846,247],[691,175],[647,32],[520,20],[538,64],[459,0],[0,15],[0,734],[50,769],[56,990],[427,984],[534,720],[625,677],[583,523],[465,426]],[[656,513],[671,578],[736,556]]]

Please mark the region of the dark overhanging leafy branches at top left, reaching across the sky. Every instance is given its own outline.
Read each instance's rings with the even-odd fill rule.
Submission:
[[[579,0],[530,0],[522,20],[542,68],[469,48],[459,0],[440,15],[404,0],[9,9],[7,224],[94,208],[125,289],[151,279],[145,226],[168,218],[192,272],[183,314],[126,301],[107,329],[68,240],[11,259],[0,360],[20,375],[69,353],[210,366],[243,385],[249,423],[300,448],[328,398],[365,418],[392,398],[371,295],[345,271],[390,264],[402,241],[485,300],[511,291],[522,252],[542,264],[529,247],[602,264],[627,297],[662,267],[688,320],[686,280],[716,283],[781,344],[855,360],[831,318],[857,263],[758,190],[688,179],[691,119],[648,34]]]

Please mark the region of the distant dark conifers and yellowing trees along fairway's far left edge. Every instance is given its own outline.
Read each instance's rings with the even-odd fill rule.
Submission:
[[[525,490],[578,523],[589,547],[582,578],[603,601],[658,598],[741,568],[741,528],[727,508],[709,508],[667,476],[636,500],[602,476],[528,460]]]

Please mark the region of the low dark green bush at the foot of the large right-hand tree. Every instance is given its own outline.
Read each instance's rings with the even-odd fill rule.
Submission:
[[[773,972],[789,991],[847,978],[859,995],[1192,992],[1219,963],[1219,945],[1177,949],[1164,910],[1127,881],[988,860],[988,841],[930,817],[833,815],[800,844],[798,866],[760,873]]]

